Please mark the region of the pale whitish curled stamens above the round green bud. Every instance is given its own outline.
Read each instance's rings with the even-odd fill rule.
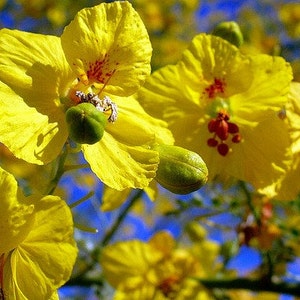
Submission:
[[[118,109],[117,105],[111,101],[108,96],[105,96],[103,99],[100,99],[98,95],[93,93],[85,94],[81,91],[76,91],[76,96],[79,98],[80,102],[87,102],[93,104],[97,110],[105,113],[110,111],[108,121],[114,123],[117,120]]]

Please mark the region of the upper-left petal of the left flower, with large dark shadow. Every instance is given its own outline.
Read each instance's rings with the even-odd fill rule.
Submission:
[[[9,29],[0,30],[0,70],[2,82],[24,96],[28,105],[35,103],[44,110],[56,106],[58,94],[66,92],[76,78],[65,59],[60,38]],[[47,103],[45,97],[51,101],[47,98]]]

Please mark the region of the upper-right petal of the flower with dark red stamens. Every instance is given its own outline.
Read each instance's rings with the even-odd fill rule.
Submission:
[[[256,55],[251,57],[255,76],[249,89],[230,98],[233,116],[248,121],[266,120],[287,103],[292,70],[281,57]]]

